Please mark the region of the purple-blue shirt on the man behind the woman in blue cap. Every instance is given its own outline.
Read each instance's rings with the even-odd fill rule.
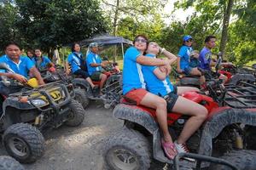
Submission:
[[[201,69],[211,71],[212,52],[210,49],[204,47],[199,54]]]

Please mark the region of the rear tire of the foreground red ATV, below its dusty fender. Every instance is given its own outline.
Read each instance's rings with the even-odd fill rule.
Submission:
[[[150,147],[143,134],[124,128],[106,144],[105,167],[111,170],[146,170],[150,167]]]

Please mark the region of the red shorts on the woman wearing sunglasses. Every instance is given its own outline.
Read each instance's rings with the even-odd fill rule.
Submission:
[[[148,94],[148,91],[144,88],[132,89],[130,92],[125,94],[125,99],[129,99],[133,102],[136,102],[136,105],[140,105],[144,96]]]

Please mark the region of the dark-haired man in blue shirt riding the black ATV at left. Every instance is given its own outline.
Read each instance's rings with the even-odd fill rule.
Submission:
[[[21,83],[26,83],[28,78],[28,72],[36,77],[39,85],[44,84],[44,80],[41,77],[38,69],[35,67],[31,59],[27,57],[20,57],[20,45],[16,42],[9,42],[5,48],[5,54],[0,58],[0,63],[9,65],[9,68],[15,73],[0,70],[0,76],[9,77],[15,79]],[[9,86],[6,87],[3,82],[0,82],[0,94],[8,96],[9,94],[20,91],[20,87]]]

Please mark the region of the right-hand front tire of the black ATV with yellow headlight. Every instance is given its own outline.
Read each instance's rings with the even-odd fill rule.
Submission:
[[[84,108],[76,100],[72,100],[69,107],[71,109],[70,118],[65,124],[69,127],[78,127],[84,121]]]

